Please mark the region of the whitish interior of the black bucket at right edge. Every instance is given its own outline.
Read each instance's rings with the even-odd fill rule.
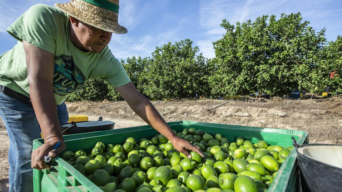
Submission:
[[[342,146],[308,146],[298,152],[312,159],[342,169]]]

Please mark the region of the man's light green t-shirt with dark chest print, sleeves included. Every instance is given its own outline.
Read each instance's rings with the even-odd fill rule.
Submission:
[[[18,42],[0,56],[0,85],[29,97],[27,66],[22,40],[55,55],[53,90],[57,105],[91,79],[102,79],[115,87],[130,82],[106,46],[100,53],[77,49],[69,37],[69,17],[49,5],[37,4],[20,16],[7,31]]]

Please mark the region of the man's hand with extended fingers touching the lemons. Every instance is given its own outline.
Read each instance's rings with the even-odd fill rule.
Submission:
[[[190,143],[189,141],[186,141],[179,137],[174,137],[172,140],[170,140],[173,147],[183,153],[185,156],[191,158],[190,152],[194,151],[197,152],[199,155],[204,157],[202,150],[198,147]]]

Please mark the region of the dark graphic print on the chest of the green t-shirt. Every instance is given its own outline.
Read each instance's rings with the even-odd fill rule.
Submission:
[[[55,94],[65,96],[73,93],[79,90],[85,81],[86,78],[74,64],[71,56],[55,56],[53,74],[53,91]]]

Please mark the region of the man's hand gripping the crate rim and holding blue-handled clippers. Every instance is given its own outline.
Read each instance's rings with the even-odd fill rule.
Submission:
[[[60,142],[60,146],[57,149],[53,149],[55,145]],[[31,167],[35,169],[50,169],[51,164],[47,164],[44,161],[44,156],[50,155],[51,158],[57,156],[59,153],[65,150],[65,143],[63,138],[51,137],[44,141],[44,144],[35,149],[31,156]]]

